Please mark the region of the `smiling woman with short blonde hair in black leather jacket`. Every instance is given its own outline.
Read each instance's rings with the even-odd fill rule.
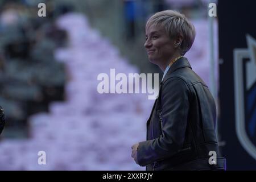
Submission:
[[[132,146],[132,157],[147,170],[223,170],[218,151],[216,105],[204,81],[183,57],[195,27],[177,11],[148,19],[144,47],[164,72],[159,96],[147,121],[147,140]]]

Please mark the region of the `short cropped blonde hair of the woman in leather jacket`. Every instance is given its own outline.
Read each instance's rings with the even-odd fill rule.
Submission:
[[[160,25],[165,28],[171,39],[176,38],[178,35],[182,35],[183,41],[179,46],[181,55],[185,55],[191,48],[196,37],[196,31],[193,24],[189,22],[184,14],[174,10],[164,10],[152,15],[150,19],[147,20],[146,28],[151,25]]]

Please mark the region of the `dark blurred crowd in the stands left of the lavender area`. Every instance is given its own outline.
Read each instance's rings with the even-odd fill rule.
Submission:
[[[0,105],[6,113],[6,130],[26,131],[29,115],[47,111],[53,100],[64,100],[65,66],[53,56],[67,42],[66,32],[53,23],[65,13],[61,8],[39,17],[33,4],[2,1]]]

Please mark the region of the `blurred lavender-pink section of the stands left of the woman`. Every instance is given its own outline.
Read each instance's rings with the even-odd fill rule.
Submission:
[[[1,141],[0,170],[142,170],[131,159],[130,147],[144,139],[152,100],[146,94],[97,92],[100,73],[108,74],[110,68],[138,73],[138,69],[90,27],[85,15],[69,12],[53,24],[68,37],[64,47],[51,48],[55,64],[65,65],[68,75],[60,79],[65,100],[52,100],[48,111],[28,117],[30,138]],[[53,70],[46,80],[56,79],[57,72]],[[46,165],[38,164],[39,151],[46,152]]]

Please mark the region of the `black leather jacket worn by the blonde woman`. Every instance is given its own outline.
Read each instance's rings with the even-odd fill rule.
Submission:
[[[160,84],[147,121],[147,140],[137,148],[138,163],[147,170],[225,169],[215,125],[212,94],[182,57]],[[217,164],[209,163],[210,151],[216,152]]]

